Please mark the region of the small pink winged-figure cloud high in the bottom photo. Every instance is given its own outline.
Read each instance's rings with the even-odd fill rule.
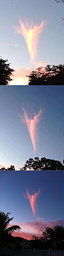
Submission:
[[[39,196],[40,189],[37,193],[34,193],[34,195],[32,195],[32,196],[28,192],[28,189],[26,189],[26,191],[27,191],[28,200],[31,204],[31,208],[33,211],[33,216],[34,216],[35,215],[35,207],[36,207],[36,198]]]

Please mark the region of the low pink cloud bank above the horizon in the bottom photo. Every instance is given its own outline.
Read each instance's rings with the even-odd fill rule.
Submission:
[[[13,236],[23,237],[25,239],[31,240],[33,235],[36,235],[37,237],[42,237],[42,231],[45,231],[45,227],[54,228],[55,225],[64,226],[64,220],[54,220],[52,222],[45,222],[45,220],[38,217],[37,220],[33,222],[12,223],[11,225],[19,225],[21,227],[20,231],[13,232]]]

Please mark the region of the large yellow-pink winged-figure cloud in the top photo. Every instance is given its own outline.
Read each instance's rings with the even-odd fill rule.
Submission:
[[[29,54],[31,56],[31,63],[33,63],[33,60],[36,58],[36,46],[38,42],[38,35],[45,28],[44,22],[42,21],[39,26],[34,25],[33,28],[32,28],[33,24],[31,24],[31,27],[28,28],[28,22],[26,25],[27,28],[25,28],[25,25],[23,24],[21,19],[19,20],[19,23],[20,23],[20,28],[17,28],[16,26],[13,26],[13,28],[15,29],[15,33],[20,33],[24,36],[25,42],[28,45]]]

